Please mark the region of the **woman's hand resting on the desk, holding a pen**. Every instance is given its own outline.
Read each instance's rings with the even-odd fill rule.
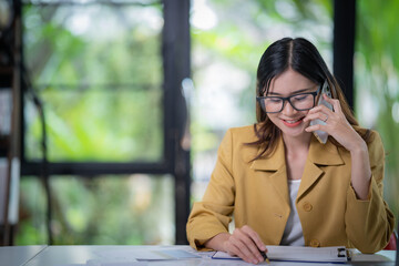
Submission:
[[[241,257],[247,263],[258,264],[264,262],[260,252],[267,252],[259,235],[249,226],[236,228],[223,243],[223,249],[229,255]]]

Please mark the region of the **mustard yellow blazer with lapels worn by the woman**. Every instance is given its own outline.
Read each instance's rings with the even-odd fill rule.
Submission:
[[[194,203],[186,225],[190,245],[203,249],[213,236],[249,225],[266,245],[279,245],[289,216],[289,194],[280,137],[267,158],[250,162],[257,146],[252,125],[231,129],[218,149],[216,166],[203,201]],[[357,200],[350,185],[350,154],[313,136],[295,202],[306,246],[356,247],[362,253],[382,249],[395,218],[382,198],[385,152],[379,134],[368,144],[371,184],[368,201]]]

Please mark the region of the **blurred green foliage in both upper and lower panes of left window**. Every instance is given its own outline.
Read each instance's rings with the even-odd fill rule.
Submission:
[[[162,160],[160,10],[23,9],[24,61],[44,103],[51,162]],[[39,160],[42,132],[29,98],[24,114],[25,154]],[[42,187],[21,181],[19,245],[47,243]],[[173,244],[172,176],[51,176],[51,195],[54,244]]]

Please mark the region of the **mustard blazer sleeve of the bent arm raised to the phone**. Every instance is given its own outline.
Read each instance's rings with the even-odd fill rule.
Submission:
[[[383,201],[385,151],[380,135],[372,131],[368,144],[371,181],[367,201],[356,197],[349,186],[345,213],[349,246],[362,253],[376,253],[388,244],[393,231],[395,217]]]

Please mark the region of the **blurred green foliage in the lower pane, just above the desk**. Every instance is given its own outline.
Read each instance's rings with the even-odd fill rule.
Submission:
[[[47,243],[45,200],[40,180],[21,182],[23,219],[18,245]],[[52,176],[55,245],[172,244],[172,176]],[[162,216],[162,218],[160,218]]]

